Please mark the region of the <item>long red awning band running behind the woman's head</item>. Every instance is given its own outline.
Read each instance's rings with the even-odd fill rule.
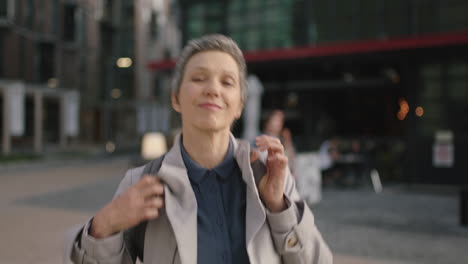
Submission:
[[[468,31],[399,39],[361,40],[287,49],[257,50],[245,52],[244,56],[247,62],[265,62],[461,44],[468,44]],[[173,60],[151,61],[147,65],[150,71],[168,70],[174,66],[175,61]]]

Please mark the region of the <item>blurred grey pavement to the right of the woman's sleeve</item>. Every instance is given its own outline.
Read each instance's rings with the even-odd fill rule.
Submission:
[[[313,210],[333,252],[347,256],[343,263],[468,263],[455,192],[326,190]]]

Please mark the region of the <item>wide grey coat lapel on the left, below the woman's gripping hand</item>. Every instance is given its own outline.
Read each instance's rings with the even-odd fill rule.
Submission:
[[[180,136],[177,136],[157,176],[165,183],[165,210],[174,232],[180,260],[183,264],[196,264],[197,200],[181,157],[179,140]],[[151,221],[149,224],[152,224]],[[145,248],[151,246],[145,245]]]

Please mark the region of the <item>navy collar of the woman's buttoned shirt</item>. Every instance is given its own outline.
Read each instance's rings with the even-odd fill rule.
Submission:
[[[224,160],[212,170],[203,168],[194,160],[192,160],[192,158],[190,158],[187,151],[185,150],[184,145],[182,144],[182,140],[180,140],[180,152],[182,154],[182,159],[184,160],[190,180],[197,183],[201,182],[205,176],[210,174],[211,171],[215,172],[216,175],[218,175],[218,177],[221,179],[226,180],[229,175],[231,175],[233,169],[236,166],[236,160],[234,158],[234,147],[231,139],[229,139],[229,148],[226,156],[224,157]]]

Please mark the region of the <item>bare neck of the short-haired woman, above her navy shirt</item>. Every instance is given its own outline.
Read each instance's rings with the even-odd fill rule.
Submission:
[[[212,169],[223,161],[229,149],[229,130],[206,132],[183,128],[182,133],[182,144],[198,165]]]

